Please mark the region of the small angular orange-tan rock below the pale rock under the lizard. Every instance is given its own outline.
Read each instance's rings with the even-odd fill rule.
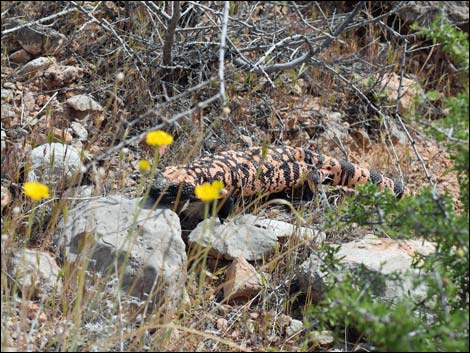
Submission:
[[[247,301],[263,289],[261,276],[243,257],[233,260],[226,272],[224,297],[227,300]]]

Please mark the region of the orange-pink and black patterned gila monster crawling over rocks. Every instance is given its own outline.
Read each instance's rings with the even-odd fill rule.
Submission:
[[[187,165],[168,166],[157,172],[150,196],[163,202],[175,201],[177,197],[181,201],[197,200],[195,187],[214,180],[224,183],[222,197],[225,199],[228,199],[227,195],[244,197],[288,192],[304,185],[307,180],[350,188],[372,182],[378,184],[381,191],[390,189],[398,198],[407,193],[402,183],[367,168],[309,149],[280,146],[268,147],[264,152],[262,147],[230,150]],[[225,208],[224,217],[228,216],[230,208],[231,205]],[[219,217],[222,218],[220,212]]]

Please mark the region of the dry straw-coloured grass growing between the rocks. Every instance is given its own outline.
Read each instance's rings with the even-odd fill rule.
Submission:
[[[60,18],[54,25],[69,39],[59,60],[85,71],[82,80],[59,90],[57,102],[86,92],[93,94],[105,107],[104,117],[90,120],[86,126],[89,138],[84,142],[83,150],[90,160],[129,136],[135,136],[157,122],[163,122],[176,113],[191,108],[218,89],[216,85],[209,85],[207,89],[183,95],[181,99],[165,104],[160,82],[162,74],[152,64],[158,62],[159,53],[152,54],[152,50],[157,49],[145,46],[146,40],[153,38],[155,27],[159,25],[154,22],[155,17],[149,16],[148,9],[140,4],[125,6],[132,9],[124,12],[118,5],[105,2],[99,5],[96,16],[107,19],[114,16],[115,19],[120,19],[114,22],[115,28],[120,35],[128,34],[125,38],[129,48],[141,55],[146,62],[146,65],[139,66],[141,72],[134,65],[135,60],[124,53],[116,38],[102,26],[97,23],[85,25],[87,18],[83,13],[75,12],[67,18]],[[240,4],[235,6],[242,8]],[[271,8],[271,5],[266,6]],[[288,25],[290,21],[294,21],[292,12],[284,15],[283,7],[276,6],[280,25]],[[58,3],[52,2],[2,2],[2,13],[9,9],[12,17],[22,16],[26,20],[33,20],[57,12],[59,7]],[[263,20],[263,16],[266,16],[266,21],[271,21],[274,14],[261,10],[254,14],[256,19]],[[211,13],[207,12],[202,15],[201,21],[210,24],[207,18],[209,14]],[[315,10],[312,10],[310,16],[321,17]],[[312,32],[298,22],[291,26],[298,31]],[[159,30],[161,31],[161,27]],[[398,41],[390,40],[387,43],[389,48],[383,51],[379,39],[386,37],[386,34],[383,28],[374,24],[361,31],[348,32],[340,36],[340,41],[334,41],[318,59],[328,62],[360,54],[362,60],[369,61],[370,65],[363,67],[361,61],[358,61],[358,66],[351,68],[367,77],[366,69],[382,64],[385,57],[389,64],[387,70],[398,71],[402,47]],[[211,30],[203,39],[217,42],[217,35],[217,30]],[[246,34],[245,38],[241,32],[239,38],[232,39],[244,42],[251,36],[252,34]],[[141,40],[142,38],[145,40]],[[2,86],[6,82],[14,82],[18,90],[23,94],[30,92],[35,100],[39,95],[52,96],[54,90],[47,89],[40,78],[16,82],[15,66],[8,61],[11,53],[9,44],[8,38],[2,37]],[[178,53],[175,59],[186,65],[187,62],[183,60],[185,55],[201,54],[201,58],[194,58],[194,65],[199,66],[196,65],[191,70],[181,69],[178,71],[179,80],[175,80],[173,86],[168,85],[167,88],[171,87],[175,93],[184,92],[214,73],[217,61],[212,62],[213,57],[204,56],[208,53],[207,50],[198,51],[195,48],[188,48],[189,54]],[[249,55],[259,57],[256,52],[250,52]],[[434,64],[429,65],[430,63]],[[339,65],[344,65],[340,67],[343,74],[351,69],[348,68],[347,61]],[[362,69],[364,70],[361,71]],[[126,77],[123,82],[116,80],[119,72]],[[416,77],[425,90],[438,87],[444,96],[453,92],[452,75],[446,71],[445,60],[442,60],[438,48],[409,57],[405,72]],[[215,103],[181,119],[178,124],[168,126],[175,137],[175,143],[161,158],[161,165],[184,163],[205,152],[243,149],[250,144],[260,145],[266,142],[303,145],[316,139],[315,146],[323,152],[343,159],[343,152],[346,151],[352,162],[370,166],[386,175],[397,176],[396,165],[399,164],[406,183],[412,189],[418,190],[426,184],[422,168],[410,151],[408,142],[406,145],[390,145],[382,136],[383,127],[377,123],[377,118],[371,114],[369,107],[331,71],[307,65],[301,74],[297,69],[276,73],[272,80],[277,87],[272,88],[262,75],[248,73],[227,62],[225,77],[230,116],[223,116],[220,113],[221,107]],[[355,83],[359,84],[357,81]],[[15,100],[15,104],[20,105],[23,98]],[[162,104],[157,114],[145,116],[149,107],[156,103]],[[383,102],[384,106],[387,104],[390,103]],[[325,107],[330,112],[341,112],[343,122],[347,121],[350,126],[351,135],[360,129],[366,131],[369,141],[367,146],[363,141],[352,138],[340,143],[322,139],[322,133],[328,127],[324,124],[325,114],[312,108],[316,106]],[[2,351],[296,351],[305,348],[304,333],[288,337],[282,322],[283,315],[302,320],[303,310],[312,302],[308,296],[299,295],[293,283],[296,266],[308,257],[314,246],[299,243],[295,239],[281,244],[271,258],[256,264],[260,273],[266,273],[266,288],[256,298],[244,304],[229,305],[224,302],[222,286],[227,264],[206,259],[205,252],[188,256],[188,301],[174,310],[168,310],[165,304],[160,308],[152,308],[149,304],[151,297],[142,303],[120,294],[117,278],[114,275],[100,276],[88,271],[85,256],[74,263],[61,263],[63,287],[56,293],[41,296],[25,290],[19,292],[17,281],[7,270],[12,254],[21,248],[52,251],[51,238],[57,223],[76,203],[74,200],[58,197],[53,201],[46,201],[47,205],[42,204],[33,214],[32,209],[38,205],[32,204],[21,192],[21,184],[29,168],[28,156],[31,149],[39,141],[60,141],[60,137],[53,136],[51,128],[65,128],[69,125],[67,117],[55,111],[56,107],[57,105],[51,105],[51,109],[46,110],[43,115],[47,118],[43,118],[34,127],[24,126],[22,119],[27,118],[26,116],[21,116],[21,119],[4,119],[2,116],[2,131],[5,129],[8,135],[8,154],[2,156],[2,181],[4,177],[8,180],[11,193],[11,202],[2,208]],[[29,112],[30,116],[34,116],[39,108],[40,105],[36,104]],[[386,109],[384,107],[384,111]],[[309,112],[307,117],[302,115],[306,110]],[[433,111],[429,108],[423,116],[433,119]],[[292,118],[314,127],[310,130],[298,129],[298,125],[294,125],[297,129],[289,131],[286,126]],[[442,188],[455,194],[458,190],[455,176],[446,174],[452,167],[449,158],[436,142],[418,132],[419,121],[410,121],[409,124],[416,126],[417,131],[413,131],[413,136],[431,173]],[[137,162],[152,158],[152,150],[146,149],[143,144],[128,146],[125,152],[121,150],[112,153],[99,161],[95,168],[91,168],[83,176],[81,183],[93,184],[94,195],[124,193],[129,197],[140,196],[138,185],[141,182],[148,184],[149,180],[142,181],[143,176],[137,172]],[[64,186],[63,190],[70,186],[72,185]],[[334,205],[337,196],[332,194],[330,197]],[[314,223],[321,220],[323,209],[312,210],[303,205],[294,207],[303,217],[302,226],[321,226]],[[44,210],[47,211],[46,214],[42,213]],[[279,206],[259,204],[252,212],[291,220],[295,218],[291,212],[286,212]],[[358,234],[361,232],[363,230],[358,230]],[[345,240],[344,236],[329,234],[328,240],[341,242]],[[38,306],[31,307],[31,303]]]

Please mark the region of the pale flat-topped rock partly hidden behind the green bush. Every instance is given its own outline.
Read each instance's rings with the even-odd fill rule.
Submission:
[[[394,301],[406,294],[419,299],[425,294],[424,287],[414,288],[413,280],[418,271],[411,268],[415,252],[430,254],[434,246],[420,240],[393,240],[367,236],[364,239],[342,244],[337,253],[346,271],[357,273],[374,294]],[[323,260],[313,254],[300,267],[298,282],[305,292],[310,292],[314,301],[323,296],[324,276],[321,271]],[[400,274],[399,280],[389,275]],[[336,274],[341,276],[341,273]]]

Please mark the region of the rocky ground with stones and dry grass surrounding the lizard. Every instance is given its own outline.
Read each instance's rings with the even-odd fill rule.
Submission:
[[[282,204],[260,204],[237,208],[224,224],[212,218],[187,229],[171,209],[151,209],[142,199],[151,180],[138,163],[154,156],[139,136],[155,126],[174,136],[161,151],[161,165],[262,143],[309,144],[403,177],[413,193],[432,181],[457,199],[453,162],[424,133],[441,114],[444,96],[425,98],[442,77],[443,54],[410,54],[403,68],[401,42],[384,40],[387,30],[373,22],[370,33],[334,41],[317,57],[323,66],[312,59],[268,75],[226,57],[228,109],[219,101],[196,109],[217,93],[204,82],[219,64],[220,32],[211,26],[222,8],[188,5],[169,74],[152,66],[164,49],[149,44],[164,42],[156,38],[164,31],[148,28],[166,21],[167,10],[133,2],[95,5],[2,3],[2,350],[344,349],[331,332],[304,324],[304,309],[323,295],[319,244],[340,244],[350,271],[363,264],[374,276],[403,273],[399,284],[390,280],[377,289],[391,301],[416,275],[408,271],[413,254],[432,252],[433,244],[379,238],[373,228],[325,232],[325,210],[351,194],[329,188],[320,205],[294,205],[300,217]],[[292,33],[296,26],[308,34],[315,34],[313,25],[327,27],[321,17],[302,16],[318,12],[308,6],[251,4],[251,19],[244,5],[236,6],[239,22],[266,24],[260,38],[272,33],[276,16]],[[63,10],[69,12],[32,24]],[[333,13],[324,10],[324,16]],[[454,21],[468,26],[468,4],[466,13]],[[195,26],[208,29],[192,37]],[[252,30],[247,25],[239,33],[239,49],[252,44]],[[364,44],[374,35],[372,45]],[[261,55],[246,57],[256,62]],[[386,55],[390,65],[381,66]],[[391,114],[395,107],[403,119]],[[52,197],[31,203],[22,193],[31,180],[47,184]]]

